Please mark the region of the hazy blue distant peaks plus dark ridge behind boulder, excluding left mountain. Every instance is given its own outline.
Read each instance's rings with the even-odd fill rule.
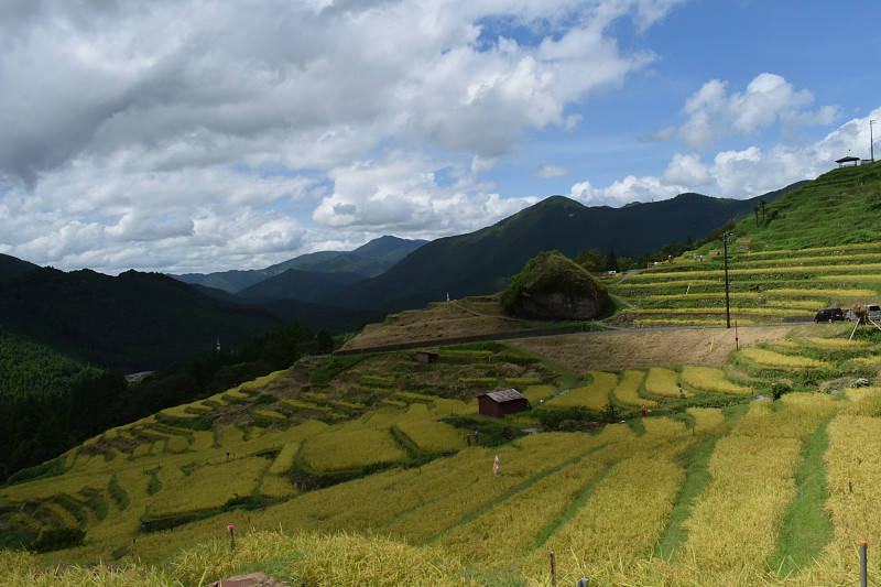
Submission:
[[[804,183],[744,200],[687,193],[621,208],[587,207],[552,196],[476,232],[428,243],[382,237],[348,253],[312,253],[263,270],[178,279],[219,287],[247,302],[300,300],[396,312],[423,307],[447,295],[498,292],[523,263],[546,250],[574,258],[584,249],[603,253],[613,249],[619,257],[635,258],[670,241],[699,239],[749,215],[761,200],[777,202]],[[371,272],[379,265],[384,269]]]

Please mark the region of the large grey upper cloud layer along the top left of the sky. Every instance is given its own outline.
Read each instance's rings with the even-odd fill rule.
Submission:
[[[383,138],[378,126],[385,135],[416,133],[497,155],[524,128],[566,124],[566,104],[620,84],[651,59],[622,54],[603,28],[630,11],[650,22],[663,7],[598,4],[605,10],[587,10],[587,23],[558,39],[521,46],[500,37],[480,50],[475,21],[485,14],[509,9],[529,24],[543,13],[577,12],[578,4],[316,8],[267,0],[242,11],[196,2],[46,1],[40,25],[3,58],[0,122],[8,139],[0,169],[33,183],[72,159],[130,144],[174,143],[185,152],[170,160],[178,165],[221,162],[253,155],[261,139],[279,131],[290,137],[280,159],[311,165],[308,156],[300,161],[302,151],[290,159],[284,151],[314,143],[316,129],[330,140],[340,131],[348,139],[366,133],[370,149]]]

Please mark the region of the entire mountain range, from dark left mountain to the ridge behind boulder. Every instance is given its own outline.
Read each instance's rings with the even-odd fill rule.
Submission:
[[[199,356],[218,339],[235,347],[294,323],[341,333],[447,295],[492,294],[546,250],[575,257],[613,248],[635,257],[699,239],[800,185],[746,200],[682,194],[622,208],[552,196],[468,235],[427,243],[382,237],[263,270],[174,279],[63,272],[0,256],[0,327],[102,367],[153,369]]]

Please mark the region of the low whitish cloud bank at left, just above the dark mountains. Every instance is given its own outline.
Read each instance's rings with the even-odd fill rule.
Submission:
[[[139,172],[121,153],[105,163],[70,165],[0,198],[0,220],[15,226],[0,236],[9,254],[58,268],[176,271],[187,258],[227,267],[251,256],[249,264],[264,267],[304,241],[290,210],[315,188],[307,177],[229,167]]]

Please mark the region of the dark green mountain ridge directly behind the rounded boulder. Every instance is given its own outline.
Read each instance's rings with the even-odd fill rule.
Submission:
[[[748,200],[682,194],[623,208],[589,208],[554,196],[491,227],[432,241],[382,275],[350,285],[328,302],[398,311],[422,307],[447,294],[496,293],[542,251],[558,250],[574,258],[583,249],[614,248],[619,257],[637,257],[671,240],[703,238],[725,222],[751,214],[760,199],[773,202],[784,192]]]

